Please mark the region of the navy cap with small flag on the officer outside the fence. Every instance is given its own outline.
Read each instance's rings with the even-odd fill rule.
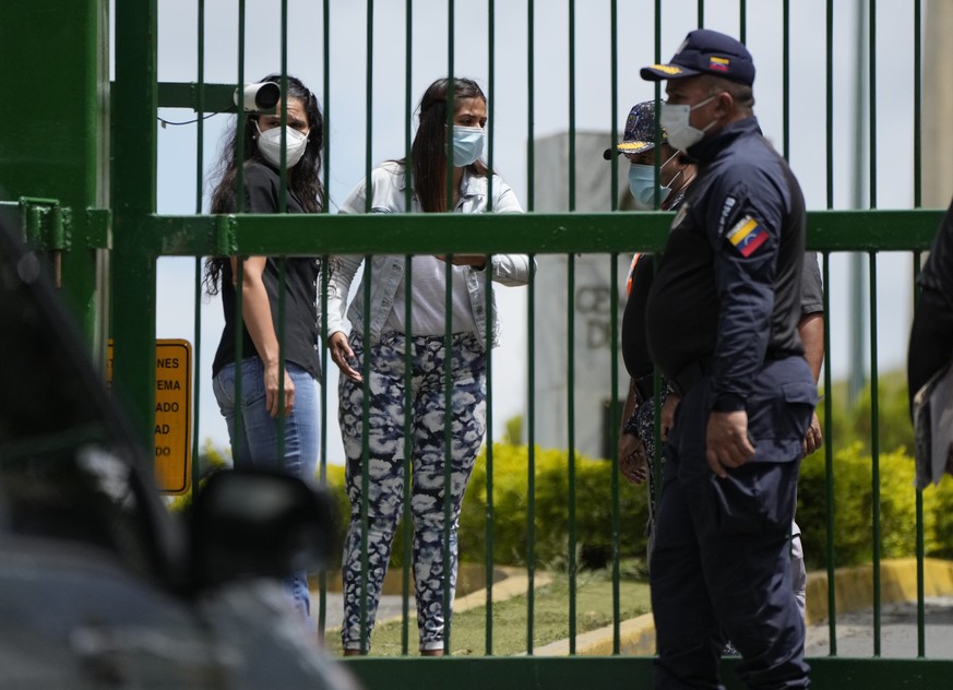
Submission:
[[[710,28],[696,28],[689,32],[667,64],[643,67],[640,74],[650,82],[714,74],[751,86],[754,60],[741,41]]]

